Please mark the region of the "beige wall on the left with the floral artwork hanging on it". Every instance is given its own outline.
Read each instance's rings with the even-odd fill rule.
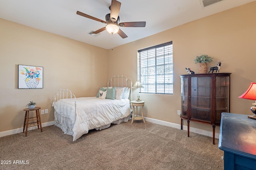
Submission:
[[[44,88],[18,89],[18,64],[42,66]],[[58,89],[76,97],[96,96],[107,84],[107,50],[0,19],[0,132],[23,127],[26,104],[37,102],[54,120],[52,101]]]

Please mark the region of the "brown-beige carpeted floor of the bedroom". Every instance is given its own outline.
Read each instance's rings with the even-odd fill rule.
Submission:
[[[212,138],[131,120],[76,141],[56,126],[0,138],[1,170],[223,170]],[[10,163],[10,164],[6,164]]]

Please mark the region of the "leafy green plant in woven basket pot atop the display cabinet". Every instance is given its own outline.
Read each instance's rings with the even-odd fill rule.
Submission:
[[[206,74],[208,71],[208,64],[212,63],[213,57],[210,57],[208,55],[200,55],[196,56],[196,59],[194,59],[195,64],[199,63],[199,74]]]

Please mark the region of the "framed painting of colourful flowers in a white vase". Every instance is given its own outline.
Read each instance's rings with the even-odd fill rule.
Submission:
[[[19,64],[18,88],[43,88],[43,67]]]

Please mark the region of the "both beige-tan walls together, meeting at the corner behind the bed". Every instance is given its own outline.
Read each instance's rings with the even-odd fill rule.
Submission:
[[[110,76],[126,75],[135,82],[137,50],[168,41],[173,41],[174,48],[174,94],[140,94],[146,101],[146,117],[180,124],[180,75],[186,74],[185,67],[198,73],[193,59],[201,54],[214,57],[208,67],[221,61],[220,72],[232,73],[230,111],[251,114],[254,101],[238,96],[256,81],[255,9],[256,2],[252,2],[109,50],[0,19],[0,132],[23,127],[23,109],[30,100],[49,109],[42,115],[43,123],[53,121],[51,104],[59,88],[71,89],[77,97],[95,96]],[[17,89],[18,64],[43,66],[44,88]],[[133,100],[136,94],[133,90]],[[190,125],[212,129],[199,123]]]

